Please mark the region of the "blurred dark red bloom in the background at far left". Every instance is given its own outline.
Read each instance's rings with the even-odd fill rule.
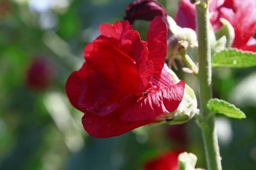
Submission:
[[[35,90],[45,90],[54,78],[52,65],[43,57],[35,58],[26,73],[26,85]]]

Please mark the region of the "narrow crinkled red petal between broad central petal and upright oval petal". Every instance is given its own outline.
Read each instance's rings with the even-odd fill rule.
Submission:
[[[148,59],[147,43],[136,37],[134,40],[134,59],[137,64],[137,69],[140,74],[140,89],[141,92],[148,89],[148,83],[151,81],[154,67],[150,59]]]

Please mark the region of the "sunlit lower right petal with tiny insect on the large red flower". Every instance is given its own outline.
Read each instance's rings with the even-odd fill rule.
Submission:
[[[176,85],[170,85],[151,92],[140,99],[137,96],[128,96],[120,104],[120,108],[122,108],[120,119],[139,122],[154,119],[163,112],[173,112],[180,105],[184,95],[184,88],[185,82],[181,80]]]

